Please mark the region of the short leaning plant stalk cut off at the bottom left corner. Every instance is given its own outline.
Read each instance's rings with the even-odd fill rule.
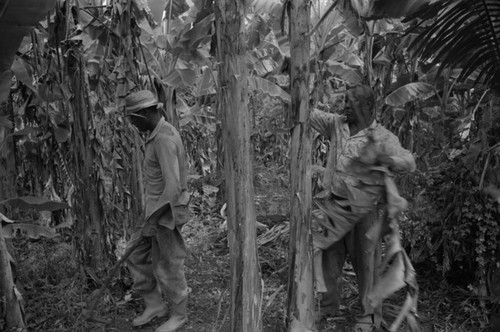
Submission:
[[[1,218],[0,218],[1,221]],[[5,308],[7,322],[7,330],[17,331],[17,329],[25,329],[23,314],[21,311],[21,303],[17,299],[15,293],[14,280],[12,279],[12,269],[10,268],[9,253],[3,236],[2,227],[0,227],[0,286],[2,287],[2,295],[5,298]]]

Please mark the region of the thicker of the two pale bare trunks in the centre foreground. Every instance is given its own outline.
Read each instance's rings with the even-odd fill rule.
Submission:
[[[247,108],[245,8],[238,0],[220,0],[215,7],[231,260],[230,331],[257,332],[262,330],[262,294]]]

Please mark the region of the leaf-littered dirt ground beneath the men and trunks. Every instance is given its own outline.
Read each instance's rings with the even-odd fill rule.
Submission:
[[[264,191],[265,192],[265,191]],[[214,198],[213,198],[214,199]],[[259,262],[263,278],[263,327],[265,332],[284,331],[286,312],[288,220],[286,194],[257,193],[259,222],[268,226],[258,231]],[[205,205],[203,205],[203,204]],[[229,332],[230,263],[224,218],[220,206],[204,201],[193,211],[183,233],[190,249],[186,277],[192,292],[189,321],[179,332]],[[103,296],[97,313],[111,324],[86,322],[82,315],[90,290],[75,276],[78,268],[72,246],[62,239],[14,241],[10,248],[17,261],[18,287],[23,294],[29,331],[98,332],[154,331],[167,317],[134,329],[131,321],[143,309],[142,301],[130,290],[126,271]],[[423,332],[500,331],[488,328],[490,307],[469,290],[446,285],[435,276],[418,270],[419,319]],[[344,269],[343,299],[338,317],[330,318],[318,332],[350,331],[360,308],[352,267]],[[386,301],[384,318],[394,320],[404,294]],[[0,320],[0,330],[2,330]],[[384,330],[383,330],[384,331]],[[387,330],[385,330],[387,331]],[[399,331],[405,331],[401,328]]]

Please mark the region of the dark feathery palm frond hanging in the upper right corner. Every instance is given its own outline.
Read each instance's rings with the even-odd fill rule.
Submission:
[[[500,88],[500,1],[443,0],[418,13],[435,21],[419,32],[410,50],[445,69],[461,68],[458,81],[479,73],[476,84]],[[418,30],[422,29],[422,30]]]

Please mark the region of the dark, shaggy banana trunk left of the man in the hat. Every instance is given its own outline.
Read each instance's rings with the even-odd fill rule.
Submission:
[[[75,212],[77,215],[77,239],[80,262],[83,267],[100,271],[109,266],[103,207],[100,199],[99,156],[100,143],[95,134],[92,106],[88,98],[89,87],[85,79],[79,49],[68,52],[69,85],[73,91],[70,99],[72,110],[73,162],[76,186]]]

